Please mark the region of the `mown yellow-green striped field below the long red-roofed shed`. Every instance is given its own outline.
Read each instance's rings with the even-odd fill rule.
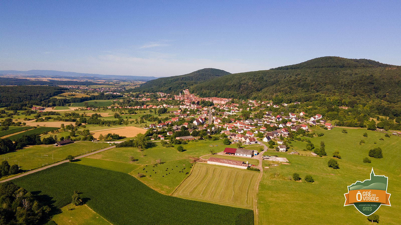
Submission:
[[[196,163],[191,175],[173,195],[252,209],[259,174],[245,169]]]

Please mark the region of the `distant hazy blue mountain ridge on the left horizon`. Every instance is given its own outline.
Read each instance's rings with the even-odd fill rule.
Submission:
[[[157,79],[154,76],[120,76],[120,75],[103,75],[103,74],[91,74],[91,73],[79,73],[79,72],[64,72],[57,70],[28,70],[28,71],[18,71],[18,70],[0,70],[0,74],[22,74],[25,76],[44,76],[44,77],[74,77],[74,78],[85,78],[85,77],[95,77],[103,79],[124,79],[124,80],[138,80],[138,81],[149,81]]]

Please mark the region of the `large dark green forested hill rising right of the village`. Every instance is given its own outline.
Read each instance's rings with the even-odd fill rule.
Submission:
[[[389,103],[399,102],[399,66],[385,66],[387,64],[372,60],[356,62],[338,58],[317,58],[304,64],[296,64],[298,66],[294,65],[294,69],[230,74],[194,85],[190,87],[190,91],[200,96],[254,99],[279,97],[289,102],[315,100],[316,96],[340,96],[356,101],[379,99]],[[344,63],[347,66],[341,67],[338,66],[340,61],[350,64]],[[351,66],[351,62],[356,64]]]

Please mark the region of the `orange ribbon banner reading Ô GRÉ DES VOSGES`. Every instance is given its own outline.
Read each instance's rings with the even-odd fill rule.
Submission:
[[[383,190],[351,190],[345,195],[345,205],[358,202],[375,202],[390,205],[390,194]]]

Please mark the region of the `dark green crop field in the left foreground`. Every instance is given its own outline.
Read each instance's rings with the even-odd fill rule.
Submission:
[[[252,210],[162,195],[126,173],[76,163],[26,175],[14,183],[40,191],[43,199],[52,199],[59,208],[71,203],[73,191],[79,190],[86,204],[113,225],[253,224]]]

